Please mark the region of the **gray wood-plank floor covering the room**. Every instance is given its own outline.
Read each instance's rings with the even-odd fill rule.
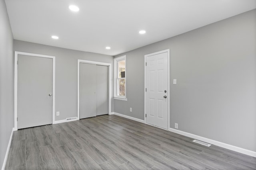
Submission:
[[[116,115],[15,131],[6,170],[256,169],[256,158]]]

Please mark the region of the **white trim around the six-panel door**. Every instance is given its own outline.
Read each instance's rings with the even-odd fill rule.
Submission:
[[[165,130],[169,130],[170,128],[170,49],[166,49],[163,51],[158,51],[156,53],[151,53],[144,55],[144,123],[146,123],[146,58],[152,55],[157,55],[161,53],[167,52],[167,119],[168,119],[168,128]],[[148,124],[150,125],[150,124]],[[154,126],[154,125],[153,125]],[[160,127],[159,127],[160,128]],[[161,128],[162,129],[162,128]]]

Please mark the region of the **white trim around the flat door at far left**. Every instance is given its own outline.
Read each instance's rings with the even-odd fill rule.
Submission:
[[[32,57],[44,57],[52,59],[52,124],[55,122],[55,56],[33,53],[14,52],[14,131],[18,130],[18,55],[29,55]]]

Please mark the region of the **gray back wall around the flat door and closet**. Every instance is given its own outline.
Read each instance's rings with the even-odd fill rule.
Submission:
[[[77,60],[111,63],[113,57],[14,40],[14,51],[55,56],[55,120],[77,116]],[[112,84],[113,84],[113,80]],[[112,101],[113,104],[113,101]],[[113,109],[113,108],[112,108]]]

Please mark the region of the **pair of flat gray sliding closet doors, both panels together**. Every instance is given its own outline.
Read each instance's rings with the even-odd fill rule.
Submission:
[[[108,66],[80,63],[80,119],[108,114]]]

